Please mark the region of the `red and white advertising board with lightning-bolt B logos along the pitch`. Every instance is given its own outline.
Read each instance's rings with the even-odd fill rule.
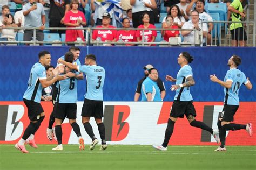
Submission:
[[[46,113],[44,122],[37,131],[35,139],[38,144],[55,144],[46,138],[46,128],[52,111],[51,102],[42,102]],[[151,145],[161,144],[167,125],[172,102],[104,102],[104,124],[108,144]],[[83,102],[77,103],[77,123],[80,126],[85,144],[91,139],[84,130],[80,112]],[[194,102],[197,120],[217,129],[222,102]],[[15,144],[21,138],[29,124],[28,111],[23,102],[0,102],[1,128],[0,144]],[[235,122],[256,125],[255,102],[241,102]],[[97,138],[100,138],[95,121],[91,121]],[[78,144],[67,119],[63,122],[63,144]],[[256,145],[256,136],[249,137],[245,130],[227,131],[227,145]],[[186,118],[179,119],[174,128],[169,145],[217,145],[210,133],[190,126]]]

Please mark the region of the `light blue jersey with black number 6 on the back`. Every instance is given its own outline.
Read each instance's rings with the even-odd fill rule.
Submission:
[[[57,102],[77,102],[77,79],[75,77],[59,81],[59,94],[57,96]]]

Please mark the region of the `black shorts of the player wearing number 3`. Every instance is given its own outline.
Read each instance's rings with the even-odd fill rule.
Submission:
[[[84,99],[84,104],[82,108],[83,117],[103,117],[103,101],[94,101],[89,99]]]

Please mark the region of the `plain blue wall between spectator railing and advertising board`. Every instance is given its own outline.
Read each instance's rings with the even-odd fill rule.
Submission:
[[[59,56],[69,47],[56,46],[0,46],[0,101],[22,101],[26,90],[30,69],[38,61],[38,52],[48,50],[52,56],[52,65],[56,65]],[[242,57],[239,68],[256,84],[256,48],[245,47],[81,47],[80,61],[85,55],[93,53],[97,63],[106,70],[104,101],[133,101],[137,83],[144,76],[142,67],[151,63],[159,70],[159,77],[176,76],[180,66],[177,58],[180,52],[188,51],[194,56],[191,63],[196,85],[191,88],[194,101],[223,101],[223,87],[210,81],[209,74],[215,74],[223,80],[228,70],[227,61],[232,54]],[[174,93],[169,90],[171,82],[166,82],[164,101],[173,101]],[[78,83],[78,100],[83,101],[86,82]],[[240,101],[256,101],[256,88],[251,91],[240,88]]]

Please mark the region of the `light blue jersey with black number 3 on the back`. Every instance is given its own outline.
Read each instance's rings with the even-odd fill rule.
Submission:
[[[103,85],[105,81],[105,69],[98,65],[78,66],[78,72],[86,75],[87,89],[84,97],[89,100],[103,101]]]

